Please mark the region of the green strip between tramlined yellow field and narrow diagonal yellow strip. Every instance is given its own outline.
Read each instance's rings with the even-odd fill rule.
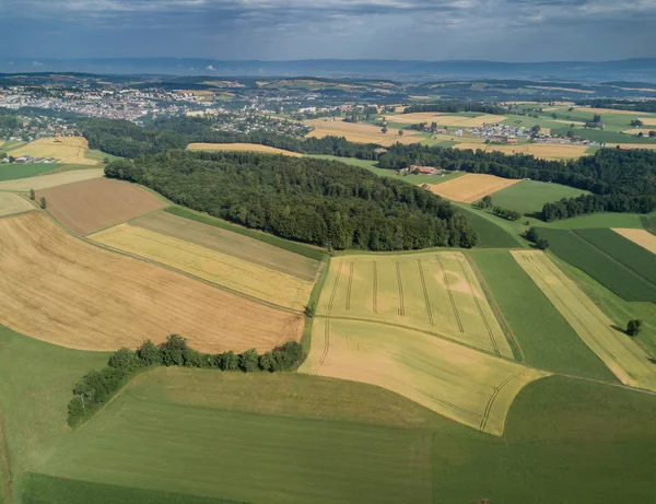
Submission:
[[[528,364],[554,373],[614,382],[613,374],[506,250],[468,253],[491,290]]]

